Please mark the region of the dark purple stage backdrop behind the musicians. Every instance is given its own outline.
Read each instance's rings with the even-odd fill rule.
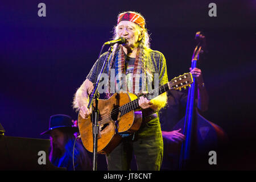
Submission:
[[[46,17],[38,16],[40,2],[46,4]],[[217,17],[208,16],[211,2]],[[210,103],[204,117],[221,126],[230,140],[221,169],[256,169],[256,1],[0,2],[0,123],[5,135],[47,138],[40,133],[51,115],[77,119],[73,94],[102,44],[112,38],[118,13],[127,10],[146,18],[151,48],[166,57],[169,80],[189,72],[195,34],[205,32],[209,52],[199,68]]]

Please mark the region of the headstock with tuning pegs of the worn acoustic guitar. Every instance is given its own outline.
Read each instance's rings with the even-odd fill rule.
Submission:
[[[184,73],[178,77],[173,78],[168,82],[169,89],[172,90],[181,90],[181,88],[186,89],[186,86],[191,86],[193,83],[193,77],[191,73]]]

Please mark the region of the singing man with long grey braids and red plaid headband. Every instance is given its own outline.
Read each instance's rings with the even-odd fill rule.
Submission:
[[[109,76],[109,84],[114,84],[114,92],[125,90],[139,97],[142,109],[142,125],[131,135],[122,135],[122,142],[106,155],[109,170],[129,170],[133,152],[138,170],[159,170],[163,158],[163,138],[159,123],[158,111],[166,105],[166,93],[153,100],[141,97],[168,82],[166,59],[159,51],[153,51],[149,45],[149,35],[143,16],[133,11],[126,11],[118,15],[117,26],[114,27],[114,39],[125,38],[122,45],[115,44],[108,67],[105,69]],[[98,72],[106,58],[107,52],[100,56],[91,69],[86,80],[75,94],[73,105],[80,110],[82,118],[91,114],[88,110],[88,96],[93,90]],[[110,72],[114,71],[115,77]],[[125,78],[123,79],[123,75]],[[154,85],[155,80],[159,85]],[[121,83],[121,87],[117,86]],[[114,93],[108,86],[108,96]]]

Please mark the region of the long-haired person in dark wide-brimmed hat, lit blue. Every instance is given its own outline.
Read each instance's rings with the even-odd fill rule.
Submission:
[[[49,160],[57,167],[65,167],[68,171],[91,170],[90,159],[85,148],[80,142],[75,143],[73,156],[73,145],[75,142],[75,132],[79,129],[73,126],[71,117],[64,114],[52,115],[49,119],[49,129],[43,134],[49,134],[51,148]],[[73,166],[73,158],[75,169]]]

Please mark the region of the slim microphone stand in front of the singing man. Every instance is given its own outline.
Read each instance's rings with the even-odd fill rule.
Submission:
[[[90,100],[88,104],[88,109],[93,105],[93,100],[95,99],[95,106],[92,107],[92,131],[93,131],[93,171],[97,171],[97,148],[98,148],[98,98],[100,97],[100,94],[98,93],[98,84],[101,80],[102,73],[105,70],[106,64],[109,62],[111,53],[113,51],[113,46],[111,45],[108,50],[108,55],[105,58],[105,61],[102,65],[100,75],[97,78],[97,81],[95,83],[93,92],[90,94]],[[100,61],[100,59],[98,59]]]

